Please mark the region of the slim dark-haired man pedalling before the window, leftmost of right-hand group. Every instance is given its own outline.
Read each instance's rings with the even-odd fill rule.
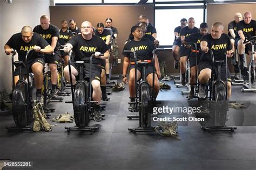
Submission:
[[[181,46],[181,39],[180,39],[180,30],[183,29],[187,25],[187,19],[183,18],[180,20],[180,26],[177,26],[174,29],[175,39],[172,44],[172,56],[174,58],[174,69],[178,69],[179,67],[179,49]]]

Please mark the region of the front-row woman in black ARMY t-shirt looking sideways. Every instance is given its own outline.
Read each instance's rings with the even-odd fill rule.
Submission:
[[[155,49],[153,43],[149,40],[149,39],[145,39],[142,38],[143,37],[143,31],[142,28],[140,26],[133,26],[131,28],[131,33],[133,35],[133,39],[129,42],[127,42],[127,44],[125,44],[124,46],[124,50],[130,50],[130,51],[135,51],[137,54],[137,61],[138,60],[152,60],[152,51],[153,49]],[[123,65],[123,81],[125,83],[127,83],[127,77],[126,77],[126,73],[127,73],[127,69],[129,66],[130,61],[134,61],[134,57],[131,56],[132,54],[127,54],[124,53],[124,65]],[[155,79],[154,79],[154,94],[158,94],[159,92],[159,81],[158,78],[160,78],[160,69],[159,69],[159,63],[158,63],[158,59],[156,56],[155,59],[155,67],[156,67],[156,73]],[[149,66],[146,68],[146,79],[149,82],[150,86],[152,86],[153,82],[153,75],[152,75],[152,69],[153,66],[149,64]],[[134,65],[130,66],[130,70],[129,70],[129,91],[130,91],[130,98],[131,98],[131,102],[134,102],[135,100],[135,93],[136,93],[136,89],[135,89],[135,69],[134,69]],[[137,67],[137,79],[139,80],[140,77],[142,77],[142,67],[138,66]],[[155,96],[155,97],[156,97]],[[130,104],[128,110],[129,111],[134,111],[136,105],[135,104]]]

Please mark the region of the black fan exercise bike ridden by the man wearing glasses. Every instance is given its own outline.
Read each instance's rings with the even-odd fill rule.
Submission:
[[[63,49],[60,49],[63,50]],[[92,54],[90,56],[90,78],[89,80],[84,80],[84,61],[75,61],[75,63],[78,65],[78,81],[76,83],[76,87],[73,86],[72,83],[72,74],[71,74],[71,50],[69,52],[69,76],[70,76],[70,84],[71,84],[71,95],[72,95],[72,101],[66,102],[66,103],[72,103],[73,104],[73,110],[74,110],[74,116],[75,116],[75,123],[77,127],[66,127],[65,129],[70,132],[71,130],[77,130],[77,131],[90,131],[95,132],[96,130],[99,130],[98,126],[88,126],[89,121],[93,119],[91,104],[92,103],[98,103],[98,101],[91,101],[91,65],[92,65],[92,58],[95,56]],[[100,56],[103,56],[104,54],[100,54]],[[105,115],[102,114],[102,117]]]

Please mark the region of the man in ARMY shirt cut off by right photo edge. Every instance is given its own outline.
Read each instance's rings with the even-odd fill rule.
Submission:
[[[252,46],[250,44],[242,44],[245,39],[250,39],[255,36],[256,21],[252,19],[251,12],[244,13],[244,20],[237,24],[237,34],[235,36],[235,45],[238,47],[238,54],[240,57],[239,68],[244,70],[244,52],[248,55],[252,53]],[[254,54],[254,60],[256,54]]]

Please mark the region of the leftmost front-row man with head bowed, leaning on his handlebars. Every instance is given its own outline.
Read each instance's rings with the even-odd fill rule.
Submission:
[[[11,49],[12,48],[12,49]],[[11,54],[15,49],[18,53],[18,60],[25,61],[26,52],[29,49],[34,49],[35,52],[28,56],[28,68],[35,76],[36,83],[36,100],[43,103],[42,85],[43,85],[43,68],[44,68],[44,54],[53,52],[53,48],[48,42],[43,39],[38,33],[33,33],[30,26],[24,26],[20,33],[14,34],[8,42],[4,45],[5,53]],[[22,69],[22,74],[26,74],[25,67]],[[19,70],[16,68],[14,72],[15,84],[19,80]]]

